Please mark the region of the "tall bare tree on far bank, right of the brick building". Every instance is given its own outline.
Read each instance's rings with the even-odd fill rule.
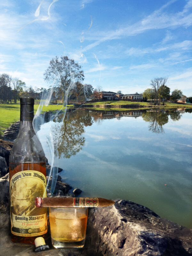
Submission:
[[[157,77],[157,78],[154,78],[153,80],[151,80],[151,86],[155,92],[155,105],[160,104],[161,94],[162,94],[162,91],[164,89],[166,82],[167,82],[166,77]]]

